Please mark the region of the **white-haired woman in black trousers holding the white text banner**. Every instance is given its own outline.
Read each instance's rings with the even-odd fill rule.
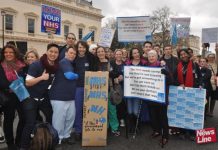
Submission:
[[[157,103],[157,102],[148,102],[148,108],[150,111],[150,120],[153,133],[151,134],[152,138],[156,138],[162,135],[160,140],[160,145],[164,146],[168,143],[169,139],[169,126],[167,118],[167,106],[168,106],[168,93],[170,85],[170,74],[165,62],[158,61],[158,54],[155,50],[150,50],[147,53],[148,56],[148,66],[150,67],[163,67],[161,73],[166,77],[166,102]]]

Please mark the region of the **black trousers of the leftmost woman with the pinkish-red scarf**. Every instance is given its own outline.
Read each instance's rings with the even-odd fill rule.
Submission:
[[[21,102],[18,100],[17,96],[14,93],[9,93],[8,95],[9,101],[6,106],[3,108],[4,111],[4,133],[5,139],[8,146],[16,144],[20,145],[21,135],[24,127],[24,116],[22,113]],[[13,134],[13,124],[15,111],[18,113],[19,121],[16,130],[16,137],[14,141]]]

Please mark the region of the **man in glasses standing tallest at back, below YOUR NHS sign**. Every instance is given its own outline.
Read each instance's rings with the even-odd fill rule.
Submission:
[[[62,60],[65,57],[65,52],[68,47],[74,47],[76,45],[76,36],[74,33],[68,33],[66,35],[66,45],[59,49],[59,60]]]

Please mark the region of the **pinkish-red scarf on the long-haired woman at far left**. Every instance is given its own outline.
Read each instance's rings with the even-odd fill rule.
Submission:
[[[16,80],[18,78],[16,72],[19,72],[23,67],[25,67],[25,64],[20,60],[15,60],[15,61],[4,60],[1,63],[1,65],[4,69],[5,76],[9,82]]]

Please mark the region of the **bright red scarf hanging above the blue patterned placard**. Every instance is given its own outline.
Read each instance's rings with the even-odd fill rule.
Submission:
[[[193,68],[192,68],[192,61],[188,62],[187,71],[185,74],[185,80],[184,80],[184,66],[182,62],[180,61],[177,67],[177,75],[178,75],[178,81],[179,84],[184,84],[185,87],[193,87],[194,86],[194,80],[193,80]]]

